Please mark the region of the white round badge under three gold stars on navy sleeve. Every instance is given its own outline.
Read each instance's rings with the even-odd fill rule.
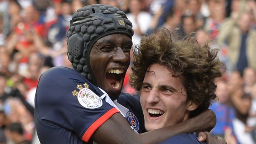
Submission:
[[[73,96],[77,96],[78,102],[87,109],[96,109],[102,106],[102,100],[93,91],[89,89],[89,85],[84,83],[82,85],[77,85],[79,91],[74,90],[72,92]]]

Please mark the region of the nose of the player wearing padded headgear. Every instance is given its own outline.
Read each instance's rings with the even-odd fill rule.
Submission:
[[[121,47],[117,47],[116,51],[113,56],[113,60],[115,62],[121,62],[121,63],[129,63],[130,62],[130,56],[129,54],[124,53]]]

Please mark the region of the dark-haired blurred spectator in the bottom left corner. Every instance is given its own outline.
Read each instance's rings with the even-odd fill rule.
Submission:
[[[30,144],[23,133],[23,128],[20,123],[11,123],[8,129],[8,136],[14,144]]]

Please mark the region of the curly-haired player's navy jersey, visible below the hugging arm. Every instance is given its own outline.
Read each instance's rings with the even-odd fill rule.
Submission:
[[[206,144],[199,142],[195,133],[179,134],[166,139],[164,142],[159,144]]]

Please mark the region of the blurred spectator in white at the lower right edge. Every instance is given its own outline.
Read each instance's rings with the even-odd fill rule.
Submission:
[[[230,101],[235,110],[235,119],[233,120],[234,133],[239,143],[255,144],[251,136],[251,129],[247,127],[247,119],[251,107],[251,96],[243,91],[244,81],[239,71],[231,73],[228,80],[228,90]]]

